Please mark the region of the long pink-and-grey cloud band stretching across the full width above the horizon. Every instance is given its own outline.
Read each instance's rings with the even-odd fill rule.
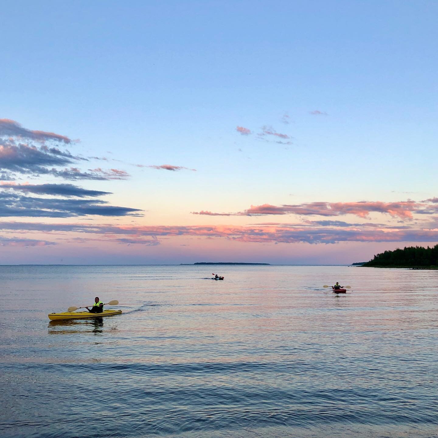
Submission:
[[[281,225],[215,225],[215,226],[114,226],[90,224],[0,223],[0,230],[34,230],[45,232],[75,232],[99,234],[106,241],[128,239],[120,243],[140,243],[144,237],[194,236],[223,238],[246,243],[330,244],[336,242],[433,242],[438,240],[438,229],[393,228],[367,226],[315,226],[315,224]],[[124,237],[120,237],[120,236]],[[127,237],[126,237],[127,236]]]

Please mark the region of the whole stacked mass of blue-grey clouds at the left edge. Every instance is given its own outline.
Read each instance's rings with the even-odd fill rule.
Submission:
[[[0,217],[125,216],[140,215],[138,208],[108,205],[106,201],[84,199],[110,194],[74,184],[18,184],[17,174],[32,177],[49,175],[64,180],[124,180],[128,173],[119,169],[81,170],[78,162],[88,159],[64,150],[70,138],[46,131],[32,131],[13,120],[0,119]],[[62,147],[62,148],[61,148]],[[35,194],[57,198],[26,196]],[[59,196],[68,198],[59,198]],[[79,198],[79,199],[71,199]]]

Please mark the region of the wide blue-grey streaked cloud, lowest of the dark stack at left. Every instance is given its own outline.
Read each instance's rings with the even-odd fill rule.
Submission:
[[[0,217],[126,216],[138,208],[106,205],[95,199],[33,198],[15,193],[0,193]]]

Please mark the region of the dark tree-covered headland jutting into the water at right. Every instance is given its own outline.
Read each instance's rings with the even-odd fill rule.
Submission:
[[[404,247],[385,251],[362,266],[375,268],[438,269],[438,244],[434,247]]]

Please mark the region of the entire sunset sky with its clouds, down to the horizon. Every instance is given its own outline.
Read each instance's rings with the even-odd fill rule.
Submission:
[[[438,243],[436,1],[2,4],[0,264]]]

